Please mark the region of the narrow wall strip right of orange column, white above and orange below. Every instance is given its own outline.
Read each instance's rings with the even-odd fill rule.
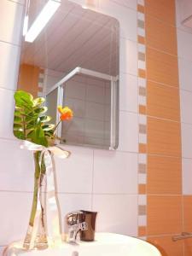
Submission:
[[[192,232],[192,28],[181,25],[181,20],[187,12],[191,15],[192,3],[179,0],[176,3],[182,131],[183,230]],[[186,3],[189,6],[186,6]],[[184,241],[184,250],[184,255],[192,255],[192,242],[190,239]]]

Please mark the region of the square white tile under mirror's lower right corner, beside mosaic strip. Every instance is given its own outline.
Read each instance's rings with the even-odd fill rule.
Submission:
[[[137,154],[95,150],[93,191],[137,194]]]

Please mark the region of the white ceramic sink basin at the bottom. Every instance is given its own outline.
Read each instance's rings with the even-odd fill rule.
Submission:
[[[80,241],[77,245],[61,243],[46,250],[22,251],[8,255],[22,256],[161,256],[156,247],[146,241],[113,233],[96,233],[96,241]]]

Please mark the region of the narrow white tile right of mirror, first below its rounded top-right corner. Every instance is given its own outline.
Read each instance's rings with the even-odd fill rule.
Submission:
[[[120,72],[137,76],[137,43],[121,38]]]

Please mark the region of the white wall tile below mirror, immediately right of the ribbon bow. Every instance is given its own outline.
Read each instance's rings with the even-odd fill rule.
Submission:
[[[55,157],[57,189],[63,193],[90,193],[93,151],[76,147],[69,148],[69,150],[72,154],[68,159],[61,160]]]

